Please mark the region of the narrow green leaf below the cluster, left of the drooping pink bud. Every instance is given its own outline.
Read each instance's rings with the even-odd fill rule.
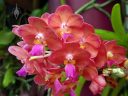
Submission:
[[[75,89],[76,96],[80,96],[80,93],[81,93],[81,90],[83,88],[83,85],[84,85],[85,81],[86,80],[85,80],[84,77],[82,77],[82,76],[79,77],[78,85]]]

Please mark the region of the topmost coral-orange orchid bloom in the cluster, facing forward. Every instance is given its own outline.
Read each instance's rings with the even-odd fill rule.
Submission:
[[[49,16],[48,24],[64,42],[76,42],[83,35],[83,21],[82,16],[73,14],[69,6],[63,5]]]

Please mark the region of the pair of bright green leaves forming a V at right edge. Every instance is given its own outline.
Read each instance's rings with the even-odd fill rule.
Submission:
[[[122,23],[119,4],[116,4],[112,9],[111,23],[112,23],[114,32],[110,32],[102,29],[96,29],[96,33],[105,40],[116,40],[119,45],[122,45],[128,48],[128,44],[127,44],[128,33],[125,32],[125,29]]]

